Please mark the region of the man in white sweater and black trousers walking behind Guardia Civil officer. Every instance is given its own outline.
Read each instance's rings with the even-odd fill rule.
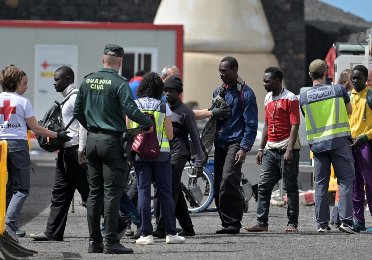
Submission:
[[[37,241],[63,241],[67,213],[75,190],[79,191],[85,201],[89,195],[84,155],[87,130],[73,116],[78,89],[74,84],[74,72],[70,67],[62,66],[55,71],[54,88],[62,93],[63,101],[67,100],[62,105],[60,118],[62,128],[72,122],[67,130],[70,131],[72,139],[64,143],[58,153],[46,231],[38,235],[30,234],[30,237]]]

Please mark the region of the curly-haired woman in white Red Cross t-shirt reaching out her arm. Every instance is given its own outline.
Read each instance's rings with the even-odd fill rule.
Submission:
[[[27,126],[40,136],[57,138],[67,142],[71,137],[69,132],[56,133],[39,126],[33,113],[32,105],[27,98],[22,97],[28,89],[25,72],[14,65],[1,69],[0,85],[0,140],[6,140],[7,169],[13,178],[12,199],[6,211],[5,229],[14,240],[16,237],[17,221],[23,203],[30,194],[31,160],[27,143]]]

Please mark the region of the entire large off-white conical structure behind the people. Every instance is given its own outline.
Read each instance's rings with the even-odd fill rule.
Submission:
[[[184,26],[184,102],[209,107],[212,92],[222,83],[219,62],[233,56],[239,63],[238,74],[256,94],[263,121],[262,75],[278,61],[260,0],[162,0],[154,24]]]

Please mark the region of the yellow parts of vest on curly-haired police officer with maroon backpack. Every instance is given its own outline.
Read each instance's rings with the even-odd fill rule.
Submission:
[[[135,100],[135,102],[138,104],[138,102],[140,102],[140,100]],[[144,103],[144,102],[142,102],[142,103]],[[156,133],[157,133],[158,142],[159,142],[159,146],[160,146],[160,152],[170,152],[169,140],[167,138],[167,134],[166,134],[166,131],[165,131],[165,128],[164,128],[164,120],[165,120],[165,117],[166,117],[166,103],[161,102],[153,110],[151,110],[151,109],[142,110],[140,105],[138,106],[138,108],[140,108],[142,113],[148,113],[148,114],[153,114],[154,115],[155,125],[156,125],[156,129],[154,129],[154,131],[156,131]],[[146,107],[144,106],[144,108],[146,108]],[[129,120],[129,123],[131,124],[132,128],[135,128],[135,127],[139,126],[138,123],[136,123],[132,120]]]

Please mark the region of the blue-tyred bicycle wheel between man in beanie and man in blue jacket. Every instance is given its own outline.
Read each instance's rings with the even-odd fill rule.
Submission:
[[[193,173],[193,167],[185,166],[182,172],[181,186],[190,213],[201,212],[211,204],[214,194],[214,180],[207,169],[203,168],[203,175],[197,178]]]

